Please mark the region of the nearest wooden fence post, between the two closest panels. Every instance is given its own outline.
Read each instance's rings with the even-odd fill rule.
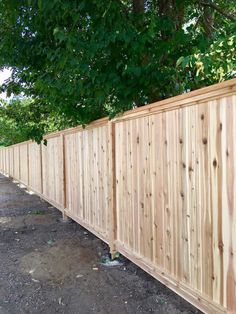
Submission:
[[[109,149],[109,247],[112,258],[116,253],[116,161],[115,161],[115,122],[108,122],[108,149]]]

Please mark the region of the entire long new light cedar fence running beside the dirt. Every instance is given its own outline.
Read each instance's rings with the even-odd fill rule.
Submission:
[[[0,171],[206,313],[236,313],[236,79],[0,150]]]

